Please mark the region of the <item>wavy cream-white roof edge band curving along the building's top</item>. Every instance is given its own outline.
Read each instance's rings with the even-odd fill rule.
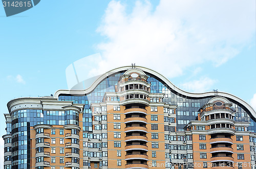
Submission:
[[[96,87],[97,85],[103,81],[105,78],[107,78],[110,75],[113,75],[115,73],[118,73],[120,71],[124,71],[124,70],[128,70],[131,69],[132,66],[123,66],[123,67],[118,67],[115,68],[113,70],[108,71],[107,73],[101,75],[97,80],[94,81],[94,83],[87,89],[84,90],[57,90],[54,94],[54,97],[57,98],[59,94],[86,94],[86,93],[91,93]],[[186,96],[189,98],[204,98],[207,96],[215,96],[216,92],[204,92],[204,93],[192,93],[192,92],[187,92],[184,91],[178,87],[176,87],[172,82],[170,82],[167,78],[165,78],[164,76],[162,76],[161,74],[159,74],[157,71],[152,70],[150,68],[146,68],[146,67],[142,67],[142,66],[136,66],[136,68],[139,68],[143,71],[145,71],[146,73],[152,74],[156,77],[158,77],[164,84],[166,84],[170,89],[174,90],[175,92],[179,93],[179,95],[182,96]],[[82,93],[81,93],[82,92]],[[218,95],[219,96],[223,96],[227,99],[230,99],[234,102],[237,102],[239,104],[241,104],[245,109],[247,109],[247,113],[250,113],[252,115],[252,117],[254,119],[256,119],[256,112],[253,110],[253,108],[246,103],[245,101],[243,101],[242,99],[238,98],[235,95],[226,93],[226,92],[220,92],[218,91]]]

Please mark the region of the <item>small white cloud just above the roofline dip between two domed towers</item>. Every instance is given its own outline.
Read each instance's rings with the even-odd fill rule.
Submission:
[[[199,80],[185,82],[180,85],[180,88],[185,91],[201,93],[209,91],[214,83],[216,83],[216,80],[204,77],[200,78]]]

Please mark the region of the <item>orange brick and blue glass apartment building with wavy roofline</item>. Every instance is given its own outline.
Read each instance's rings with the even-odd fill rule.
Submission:
[[[4,168],[254,168],[255,111],[119,67],[89,88],[8,104]],[[254,155],[255,154],[255,155]]]

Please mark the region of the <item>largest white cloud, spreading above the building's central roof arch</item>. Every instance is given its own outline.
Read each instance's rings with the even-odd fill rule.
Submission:
[[[163,0],[155,11],[137,1],[132,12],[126,9],[111,1],[105,10],[97,32],[106,41],[97,44],[102,60],[94,60],[95,75],[131,63],[168,78],[192,65],[220,66],[252,42],[255,30],[253,0]]]

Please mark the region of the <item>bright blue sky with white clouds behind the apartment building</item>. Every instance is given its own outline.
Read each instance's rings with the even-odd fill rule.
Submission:
[[[11,99],[67,89],[68,65],[96,53],[85,76],[136,63],[186,91],[218,89],[256,108],[253,0],[45,0],[10,17],[0,7],[0,25],[0,135]]]

